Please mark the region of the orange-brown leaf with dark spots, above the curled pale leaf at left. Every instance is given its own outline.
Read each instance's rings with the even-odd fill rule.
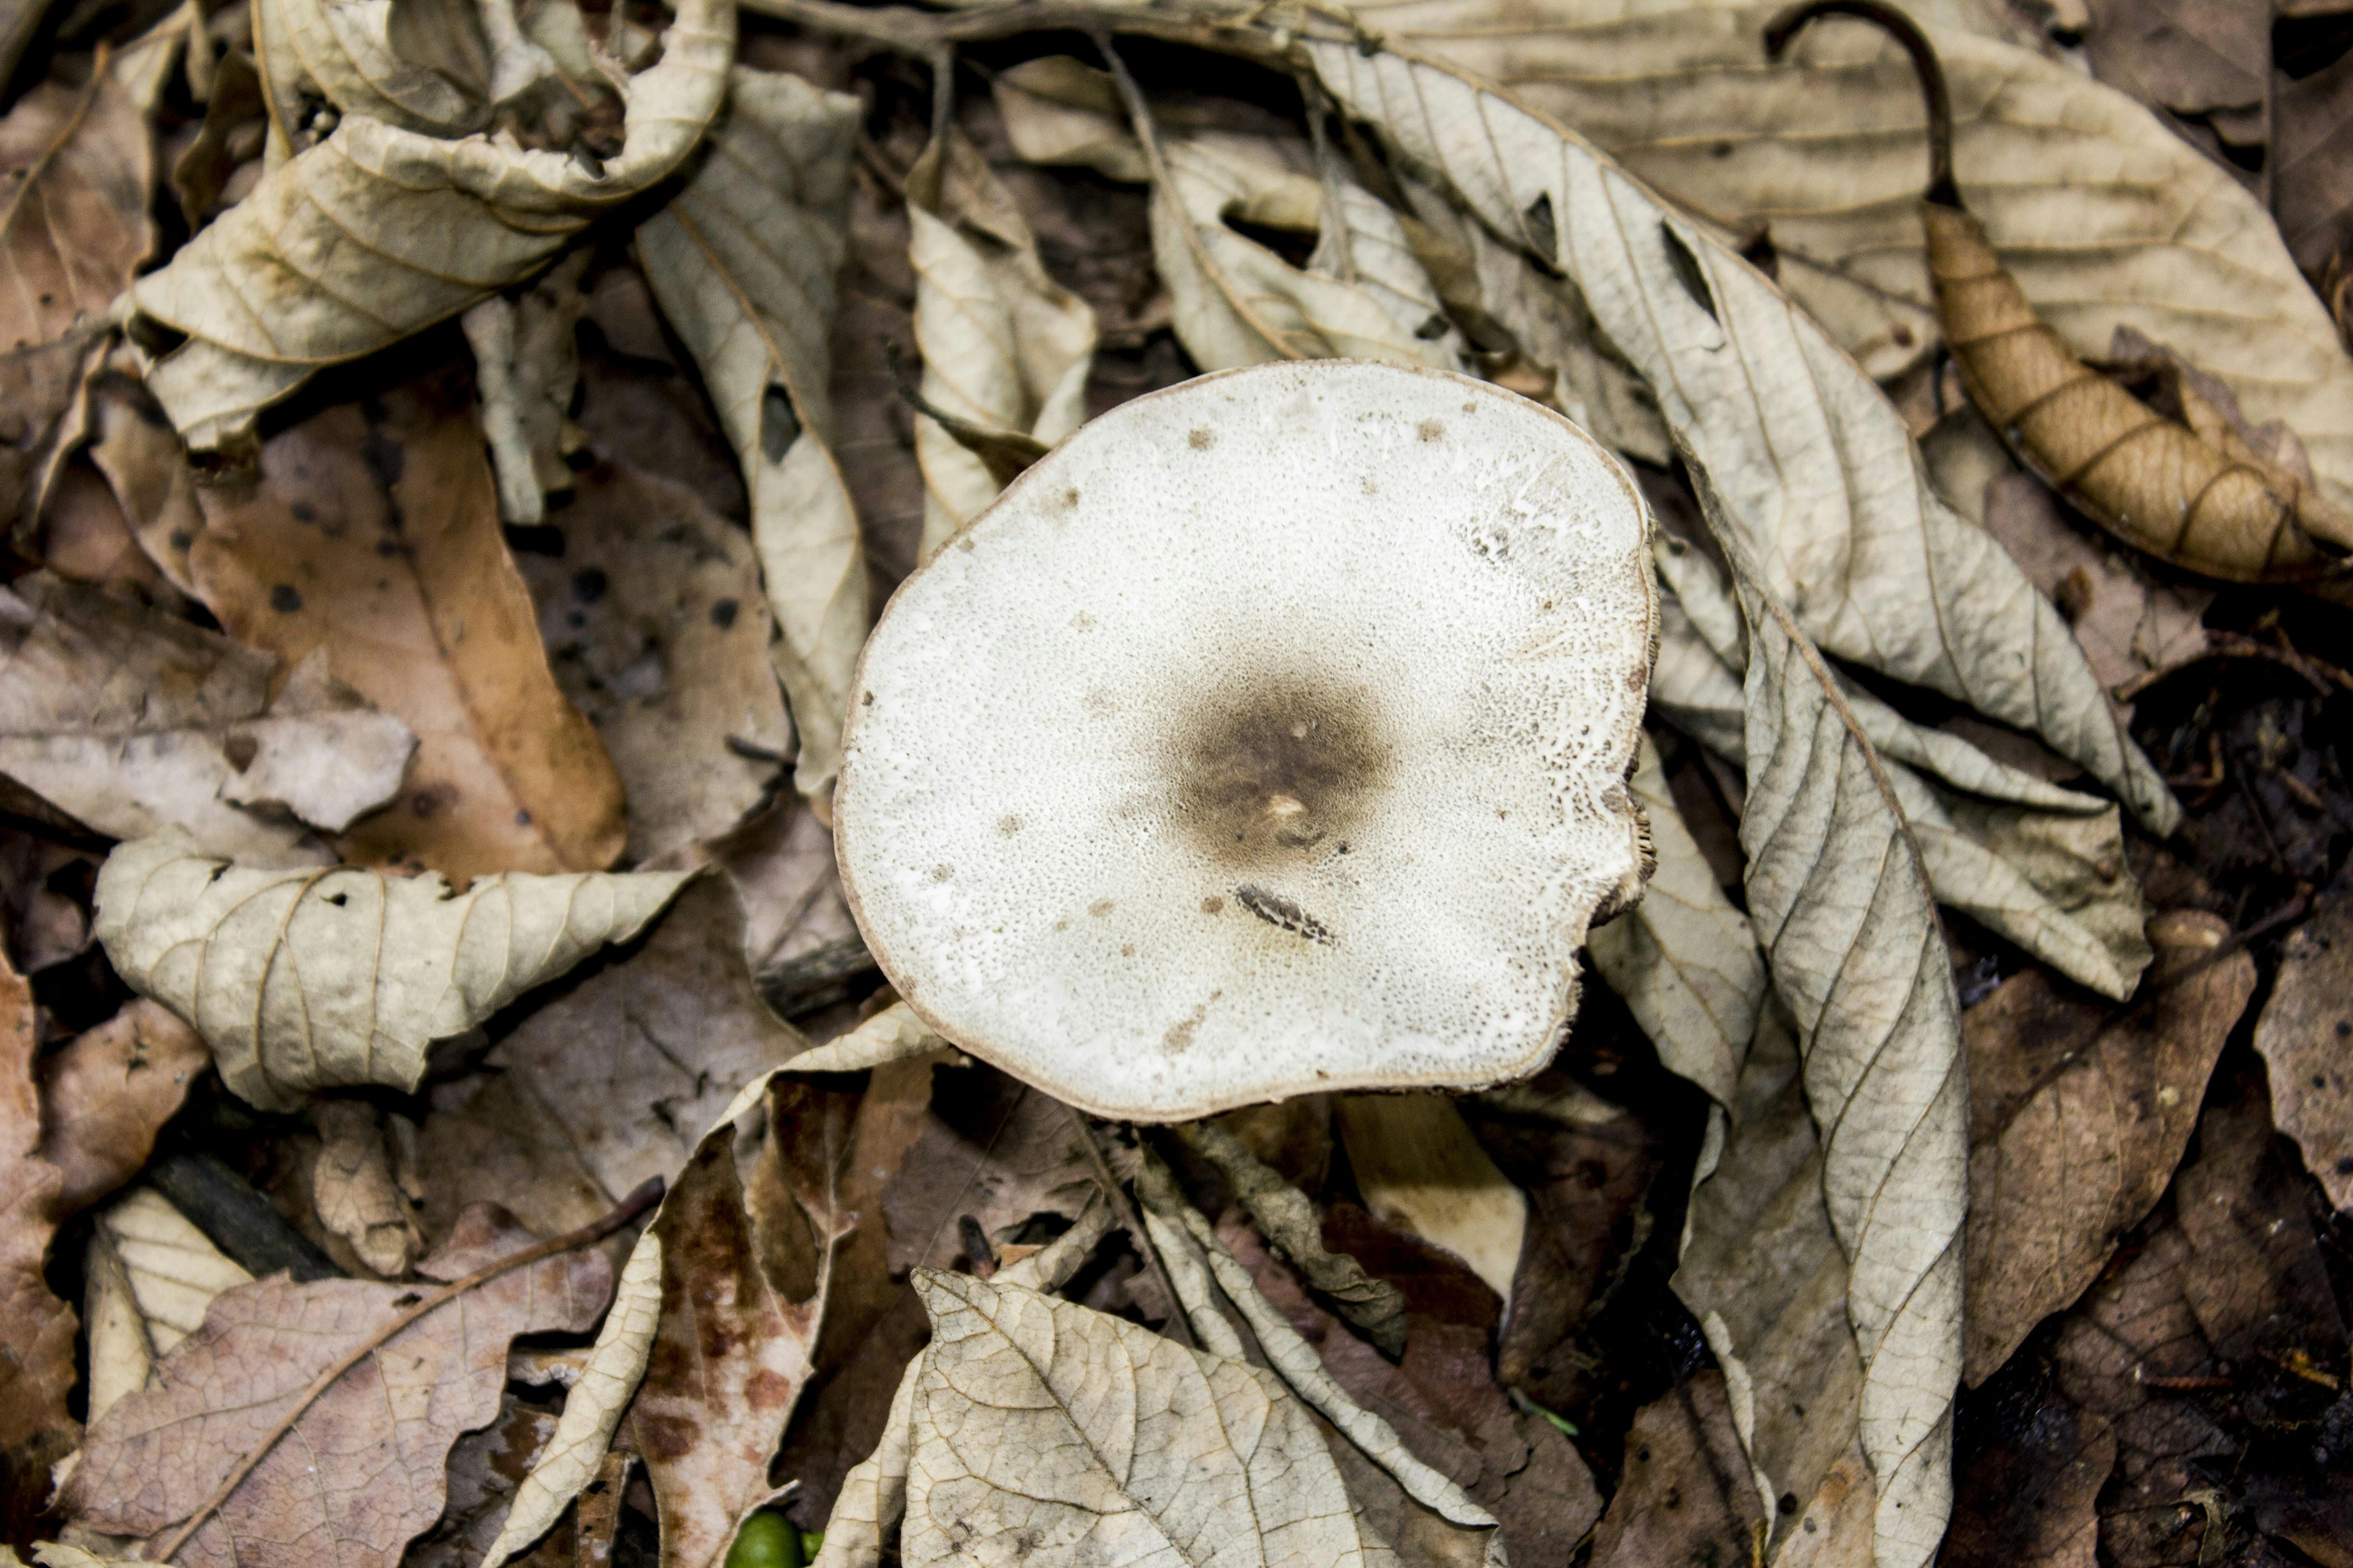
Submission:
[[[459,882],[600,870],[621,780],[548,672],[461,397],[421,383],[271,437],[259,480],[202,491],[191,574],[231,637],[289,668],[325,649],[416,731],[402,799],[346,858]]]

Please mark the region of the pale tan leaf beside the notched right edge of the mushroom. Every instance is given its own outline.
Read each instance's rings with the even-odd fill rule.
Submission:
[[[1732,684],[1729,675],[1725,682]],[[1732,689],[1737,698],[1739,686]],[[1659,870],[1642,903],[1595,926],[1586,950],[1659,1048],[1659,1063],[1729,1105],[1765,1004],[1765,954],[1682,825],[1649,736],[1628,788],[1649,818]]]

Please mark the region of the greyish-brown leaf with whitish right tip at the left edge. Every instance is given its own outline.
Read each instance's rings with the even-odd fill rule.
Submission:
[[[216,856],[318,863],[416,750],[306,658],[278,661],[38,571],[0,590],[0,771],[104,835],[179,827]],[[294,818],[294,820],[287,820]]]

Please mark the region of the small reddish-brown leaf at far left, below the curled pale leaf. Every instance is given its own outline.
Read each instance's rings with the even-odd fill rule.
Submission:
[[[54,1213],[80,1213],[134,1178],[209,1065],[195,1030],[144,997],[42,1058],[40,1157],[61,1178]]]

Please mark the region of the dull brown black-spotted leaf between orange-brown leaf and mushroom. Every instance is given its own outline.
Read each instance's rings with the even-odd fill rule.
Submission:
[[[793,731],[744,529],[624,463],[572,480],[553,552],[522,552],[515,567],[555,684],[595,724],[628,792],[624,858],[645,863],[760,806]]]

